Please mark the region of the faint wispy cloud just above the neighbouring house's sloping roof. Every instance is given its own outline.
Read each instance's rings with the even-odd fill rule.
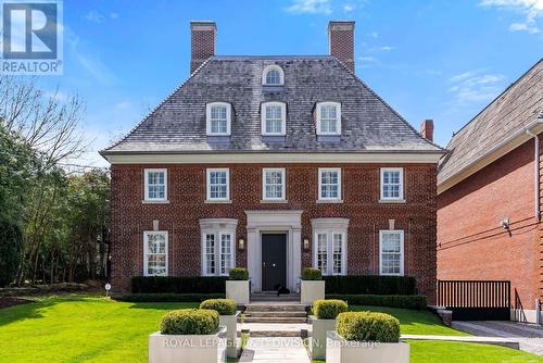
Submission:
[[[484,74],[482,71],[464,72],[449,78],[449,91],[458,104],[488,102],[504,88],[501,74]]]

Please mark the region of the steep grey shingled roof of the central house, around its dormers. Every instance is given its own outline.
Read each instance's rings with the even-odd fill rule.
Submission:
[[[266,65],[285,86],[262,86]],[[207,137],[205,105],[232,105],[230,137]],[[287,136],[261,135],[261,103],[287,103]],[[316,102],[341,103],[339,140],[317,139]],[[116,145],[126,153],[408,152],[444,153],[426,140],[334,57],[212,57]]]

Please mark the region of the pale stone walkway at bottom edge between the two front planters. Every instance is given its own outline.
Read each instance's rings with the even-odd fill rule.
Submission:
[[[303,340],[290,338],[249,338],[240,362],[311,363]]]

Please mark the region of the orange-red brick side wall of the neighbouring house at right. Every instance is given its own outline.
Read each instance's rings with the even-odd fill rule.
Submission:
[[[533,148],[532,139],[438,196],[438,278],[510,280],[523,310],[541,297]]]

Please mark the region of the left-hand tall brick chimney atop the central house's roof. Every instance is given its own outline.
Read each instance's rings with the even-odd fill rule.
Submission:
[[[190,73],[215,55],[215,22],[190,22]]]

